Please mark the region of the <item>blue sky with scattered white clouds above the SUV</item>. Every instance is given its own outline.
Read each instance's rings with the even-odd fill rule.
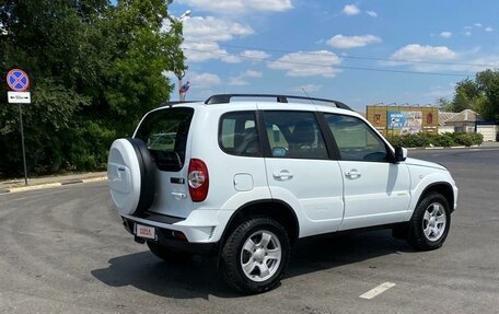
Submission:
[[[174,0],[169,8],[176,18],[186,10],[186,100],[274,93],[358,111],[427,105],[499,68],[497,0]]]

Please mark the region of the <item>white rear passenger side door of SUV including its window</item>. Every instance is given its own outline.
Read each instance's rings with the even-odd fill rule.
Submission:
[[[341,172],[329,158],[315,113],[265,111],[263,115],[272,198],[300,216],[300,236],[338,230],[344,213]]]

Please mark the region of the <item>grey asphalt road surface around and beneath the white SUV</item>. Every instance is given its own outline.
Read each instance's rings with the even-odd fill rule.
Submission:
[[[121,228],[105,183],[0,195],[0,313],[498,313],[499,150],[409,151],[460,187],[441,249],[388,231],[306,241],[280,287],[244,296],[211,259],[155,258]],[[395,286],[365,300],[362,293]]]

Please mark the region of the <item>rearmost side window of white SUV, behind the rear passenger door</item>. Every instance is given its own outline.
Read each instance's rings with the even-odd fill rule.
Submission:
[[[254,112],[234,112],[220,118],[219,144],[228,154],[260,156]]]

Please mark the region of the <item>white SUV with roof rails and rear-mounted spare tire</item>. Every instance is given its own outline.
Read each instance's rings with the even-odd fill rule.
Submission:
[[[113,143],[107,174],[137,242],[163,259],[213,254],[232,287],[257,293],[303,237],[380,226],[440,247],[457,187],[406,156],[336,101],[214,95],[148,113]]]

